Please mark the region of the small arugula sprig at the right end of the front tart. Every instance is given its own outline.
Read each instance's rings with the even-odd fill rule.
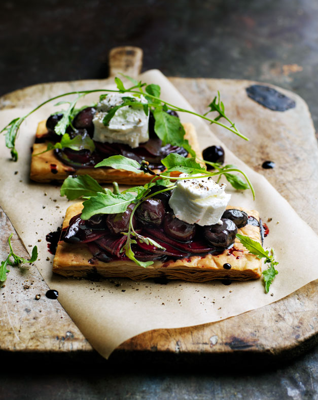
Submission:
[[[272,284],[275,276],[278,274],[278,271],[275,269],[275,266],[278,264],[278,262],[274,259],[273,249],[271,249],[270,252],[268,250],[264,250],[259,242],[256,242],[247,236],[236,234],[236,237],[239,239],[241,244],[249,250],[250,253],[255,254],[260,259],[265,258],[264,264],[269,264],[267,270],[263,271],[265,291],[268,293],[270,285]]]

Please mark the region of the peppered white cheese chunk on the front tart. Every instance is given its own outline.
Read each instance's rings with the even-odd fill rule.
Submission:
[[[225,183],[219,185],[211,177],[178,180],[169,206],[176,218],[184,222],[201,226],[215,225],[220,221],[231,198],[230,194],[225,193],[225,187]]]

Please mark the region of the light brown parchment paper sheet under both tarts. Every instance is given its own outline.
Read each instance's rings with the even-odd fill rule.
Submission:
[[[140,79],[159,84],[162,98],[169,103],[192,109],[159,71],[149,71]],[[39,103],[45,99],[39,98]],[[96,97],[89,96],[82,103],[90,104],[94,99]],[[0,125],[27,111],[1,111]],[[253,201],[251,191],[234,191],[228,185],[226,190],[232,193],[231,205],[257,209],[264,221],[272,218],[270,235],[265,238],[264,246],[274,248],[279,274],[270,293],[265,294],[262,279],[224,286],[220,281],[201,284],[170,281],[163,285],[153,280],[91,282],[52,276],[53,256],[47,250],[45,236],[61,225],[70,202],[60,197],[58,186],[31,182],[28,174],[30,147],[37,124],[53,111],[53,105],[47,105],[22,124],[17,140],[17,163],[9,159],[4,137],[0,138],[0,204],[26,248],[30,250],[29,246],[38,245],[38,269],[49,287],[58,290],[60,303],[102,356],[107,358],[122,342],[144,331],[219,321],[275,302],[318,278],[318,238],[313,230],[263,176],[234,156],[202,120],[188,114],[181,115],[181,119],[196,126],[201,148],[222,144],[226,162],[234,163],[248,174],[255,187],[256,200]]]

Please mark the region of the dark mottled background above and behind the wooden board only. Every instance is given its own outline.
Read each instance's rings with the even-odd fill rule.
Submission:
[[[318,122],[314,0],[3,0],[0,19],[0,94],[103,78],[109,50],[133,45],[144,50],[145,70],[294,90]]]

